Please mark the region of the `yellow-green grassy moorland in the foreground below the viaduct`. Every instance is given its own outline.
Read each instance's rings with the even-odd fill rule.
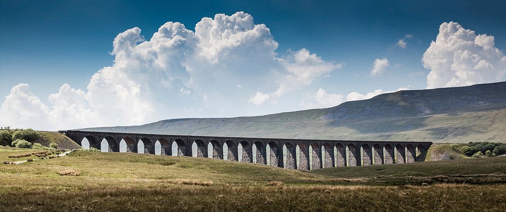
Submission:
[[[13,154],[7,152],[0,157]],[[298,171],[210,158],[77,151],[0,164],[0,210],[500,211],[506,207],[504,170],[506,157]],[[60,176],[62,171],[80,175]]]

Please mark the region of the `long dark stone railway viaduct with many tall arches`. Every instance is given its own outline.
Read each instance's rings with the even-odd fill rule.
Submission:
[[[192,156],[192,145],[196,143],[197,157],[212,156],[216,159],[223,159],[223,148],[226,144],[227,159],[238,160],[239,154],[241,154],[243,162],[253,162],[252,147],[255,145],[257,163],[267,164],[267,157],[269,157],[267,165],[306,170],[423,161],[427,150],[432,145],[431,142],[270,139],[90,131],[60,132],[81,146],[82,140],[86,138],[90,147],[97,149],[101,148],[101,142],[105,139],[110,152],[119,152],[119,143],[124,140],[126,152],[139,152],[137,143],[142,141],[144,153],[154,154],[155,142],[158,141],[161,145],[161,155],[172,155],[172,145],[175,144],[177,145],[177,156]],[[213,155],[207,155],[209,144],[212,146]],[[239,144],[242,146],[242,152],[238,152]],[[296,152],[297,146],[300,152]],[[283,161],[283,147],[286,149],[286,161]],[[140,151],[142,152],[142,149]],[[324,151],[323,154],[322,151]],[[296,158],[297,153],[299,153],[299,158]],[[310,154],[312,155],[311,161]]]

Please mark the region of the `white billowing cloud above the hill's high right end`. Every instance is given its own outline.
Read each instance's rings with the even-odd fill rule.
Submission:
[[[476,35],[456,22],[441,24],[422,62],[431,69],[429,89],[495,82],[506,73],[506,57],[495,48],[494,36]]]

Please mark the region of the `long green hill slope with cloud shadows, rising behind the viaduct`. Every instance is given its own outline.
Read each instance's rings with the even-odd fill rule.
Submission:
[[[184,118],[83,129],[129,133],[432,142],[506,142],[506,82],[399,91],[263,116]]]

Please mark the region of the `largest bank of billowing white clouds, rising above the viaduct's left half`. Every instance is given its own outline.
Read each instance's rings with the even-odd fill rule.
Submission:
[[[306,49],[278,56],[277,48],[269,28],[243,12],[202,18],[195,31],[167,22],[149,40],[134,27],[114,38],[113,65],[96,72],[87,91],[63,84],[45,105],[19,84],[0,124],[55,130],[214,116],[275,101],[342,66]]]

